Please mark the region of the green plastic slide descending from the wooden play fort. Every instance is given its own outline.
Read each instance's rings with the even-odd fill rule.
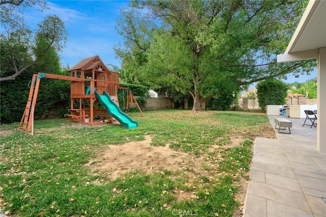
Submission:
[[[105,107],[106,111],[115,119],[117,119],[120,124],[128,129],[133,129],[138,127],[138,122],[132,120],[128,115],[122,112],[119,106],[111,99],[105,91],[103,95],[100,95],[95,91],[95,95],[98,101]]]

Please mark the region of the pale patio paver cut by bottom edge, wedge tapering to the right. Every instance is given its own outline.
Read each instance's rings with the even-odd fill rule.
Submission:
[[[311,213],[311,211],[308,212],[282,203],[267,200],[267,216],[268,217],[280,217],[280,216],[313,217],[314,215]]]

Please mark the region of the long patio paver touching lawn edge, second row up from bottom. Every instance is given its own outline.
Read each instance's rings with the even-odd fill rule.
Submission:
[[[295,192],[282,187],[271,186],[257,181],[250,181],[248,194],[278,201],[285,205],[310,211],[310,207],[303,193]],[[258,215],[259,216],[259,215]]]

